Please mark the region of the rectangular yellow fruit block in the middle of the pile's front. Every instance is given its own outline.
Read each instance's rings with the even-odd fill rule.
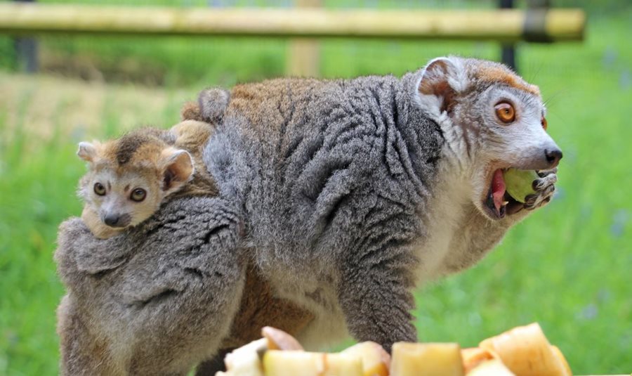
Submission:
[[[391,376],[462,376],[463,359],[459,344],[393,344]]]

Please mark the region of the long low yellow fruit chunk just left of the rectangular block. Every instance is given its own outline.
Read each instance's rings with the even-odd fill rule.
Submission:
[[[362,376],[359,356],[269,350],[263,355],[265,376]]]

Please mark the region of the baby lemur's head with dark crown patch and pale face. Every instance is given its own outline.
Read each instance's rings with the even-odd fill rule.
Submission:
[[[112,228],[145,221],[193,174],[189,153],[142,130],[106,143],[79,143],[77,155],[88,162],[79,196]]]

